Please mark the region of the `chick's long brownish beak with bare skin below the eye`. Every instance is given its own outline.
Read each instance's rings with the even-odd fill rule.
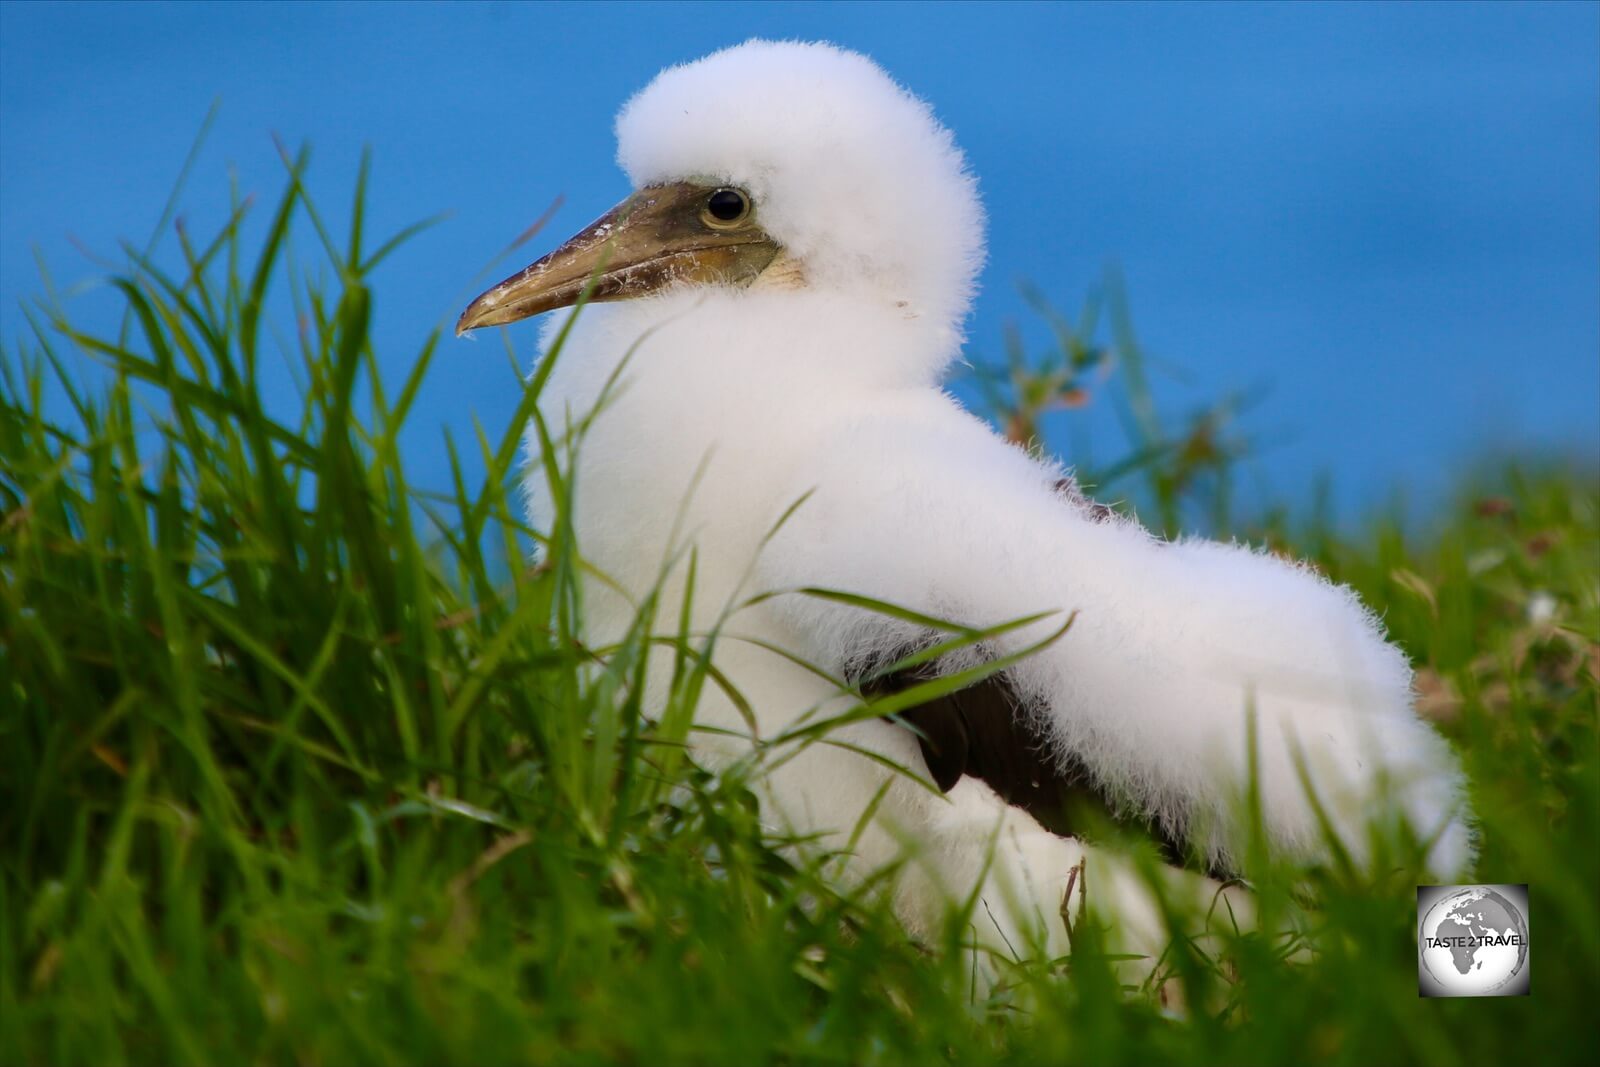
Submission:
[[[749,285],[779,246],[754,218],[717,226],[706,216],[715,186],[650,186],[587,229],[488,290],[461,312],[456,336],[590,301],[624,301],[675,282]]]

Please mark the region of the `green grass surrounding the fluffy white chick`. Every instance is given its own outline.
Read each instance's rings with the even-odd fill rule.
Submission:
[[[1416,875],[1379,862],[1253,869],[1269,929],[1298,934],[1214,955],[1176,941],[1181,1017],[1122,989],[1093,929],[1072,961],[974,1000],[958,917],[914,944],[685,758],[715,681],[704,641],[645,617],[619,648],[582,648],[560,525],[544,565],[504,565],[534,537],[507,490],[531,390],[470,443],[482,483],[459,462],[443,491],[406,480],[397,434],[438,338],[406,381],[379,381],[368,277],[394,245],[362,232],[365,174],[334,237],[302,166],[259,243],[240,205],[214,242],[134,258],[114,282],[120,334],[43,299],[0,352],[0,1062],[1592,1056],[1592,469],[1507,461],[1426,533],[1251,525],[1230,514],[1218,411],[1163,427],[1114,323],[1141,443],[1102,475],[1162,525],[1208,515],[1309,557],[1386,616],[1464,753],[1477,877],[1531,883],[1533,995],[1421,1000]],[[290,266],[291,230],[331,283]],[[285,298],[301,328],[280,334],[266,309]],[[1013,368],[1006,426],[1082,400],[1066,390],[1101,358],[1093,333]],[[258,389],[285,354],[307,382],[293,419]],[[109,386],[70,370],[85,355]],[[678,656],[653,721],[640,649],[658,637]]]

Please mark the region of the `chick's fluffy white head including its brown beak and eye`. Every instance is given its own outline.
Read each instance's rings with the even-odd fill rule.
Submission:
[[[656,75],[616,120],[634,194],[478,296],[456,333],[670,286],[848,291],[955,328],[982,208],[926,104],[870,59],[752,40]]]

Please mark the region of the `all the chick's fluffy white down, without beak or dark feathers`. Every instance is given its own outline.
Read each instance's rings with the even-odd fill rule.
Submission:
[[[1080,758],[1216,862],[1242,848],[1235,813],[1254,709],[1278,849],[1325,848],[1296,773],[1302,752],[1357,856],[1368,819],[1390,811],[1434,837],[1437,873],[1464,869],[1461,774],[1411,710],[1403,656],[1347,589],[1248,547],[1166,544],[1131,522],[1093,522],[1058,491],[1061,469],[1008,445],[938,387],[982,259],[982,210],[960,150],[923,102],[859,54],[749,42],[662,72],[622,109],[618,141],[638,187],[698,179],[749,190],[787,269],[747,288],[677,285],[590,306],[574,323],[541,400],[552,427],[590,413],[627,360],[576,453],[579,545],[627,593],[589,584],[592,641],[626,632],[664,566],[661,617],[675,619],[678,550],[693,544],[694,627],[738,608],[715,659],[771,736],[853,697],[741,638],[842,677],[928,635],[797,593],[739,608],[755,593],[819,585],[973,625],[1075,611],[1064,638],[1011,670],[1022,713],[1062,758]],[[552,318],[546,342],[565,320]],[[546,528],[552,506],[538,464],[528,491]],[[1024,648],[1062,617],[987,651]],[[664,685],[669,672],[654,675]],[[698,715],[746,729],[717,691]],[[922,766],[915,739],[893,725],[856,723],[842,739]],[[744,752],[725,736],[702,745],[714,763]],[[990,941],[1064,950],[1061,891],[1085,848],[979,782],[938,797],[816,745],[763,781],[763,803],[774,822],[838,845],[890,779],[858,841],[856,873],[909,848],[917,862],[898,904],[914,928],[934,920],[946,894],[982,880]],[[1149,926],[1134,881],[1117,861],[1096,862],[1090,904],[1130,929]]]

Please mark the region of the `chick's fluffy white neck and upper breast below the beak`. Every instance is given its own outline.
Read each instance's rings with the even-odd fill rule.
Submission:
[[[571,461],[579,542],[635,600],[672,539],[693,537],[706,560],[696,605],[722,605],[810,488],[810,458],[840,427],[928,390],[944,358],[934,346],[954,347],[893,306],[781,277],[586,307],[557,357],[539,408],[557,435],[586,426]],[[542,467],[530,470],[533,522],[547,528]],[[629,617],[618,606],[606,633]]]

